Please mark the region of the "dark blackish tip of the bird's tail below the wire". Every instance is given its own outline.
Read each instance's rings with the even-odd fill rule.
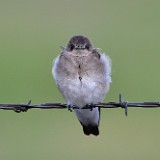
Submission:
[[[98,129],[98,126],[93,126],[93,125],[88,125],[88,126],[83,126],[83,132],[85,135],[90,135],[90,134],[93,134],[95,136],[98,136],[99,135],[99,129]]]

